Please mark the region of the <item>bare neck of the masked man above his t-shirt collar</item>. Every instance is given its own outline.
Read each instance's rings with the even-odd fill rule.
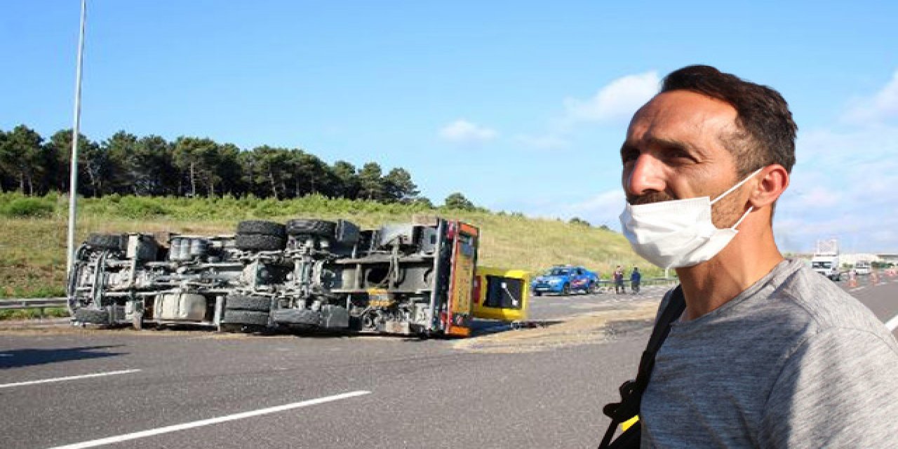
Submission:
[[[723,251],[694,267],[676,269],[686,298],[686,320],[716,310],[752,286],[783,260],[773,242],[764,235],[750,242],[738,235]]]

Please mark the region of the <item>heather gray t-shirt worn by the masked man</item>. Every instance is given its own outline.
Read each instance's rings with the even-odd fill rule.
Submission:
[[[642,447],[898,447],[898,344],[831,280],[784,260],[674,323],[640,419]]]

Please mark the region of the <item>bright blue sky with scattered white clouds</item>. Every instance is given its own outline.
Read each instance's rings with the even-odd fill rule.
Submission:
[[[72,122],[77,0],[0,6],[0,128]],[[82,131],[407,168],[436,203],[619,228],[618,149],[660,77],[709,64],[800,128],[775,226],[898,251],[898,6],[858,2],[88,2]]]

